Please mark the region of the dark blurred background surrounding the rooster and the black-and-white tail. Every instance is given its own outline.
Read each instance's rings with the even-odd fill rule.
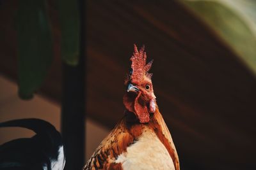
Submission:
[[[42,118],[81,169],[122,118],[133,44],[154,59],[181,169],[256,169],[256,2],[0,1],[0,122]],[[0,144],[33,133],[0,129]]]

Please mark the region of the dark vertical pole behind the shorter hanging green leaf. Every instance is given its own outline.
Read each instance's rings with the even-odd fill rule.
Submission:
[[[61,132],[65,143],[65,170],[81,170],[85,146],[85,0],[78,0],[81,11],[81,52],[79,64],[62,64]]]

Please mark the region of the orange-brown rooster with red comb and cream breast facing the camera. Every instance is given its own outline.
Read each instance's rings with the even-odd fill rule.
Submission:
[[[124,117],[100,143],[83,167],[90,169],[179,170],[179,158],[156,104],[152,61],[146,64],[144,46],[134,45],[131,69],[125,80]]]

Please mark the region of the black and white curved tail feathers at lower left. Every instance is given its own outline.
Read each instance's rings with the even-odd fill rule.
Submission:
[[[61,134],[44,120],[27,118],[0,123],[0,127],[24,127],[32,138],[8,141],[0,146],[0,170],[62,170],[65,153]]]

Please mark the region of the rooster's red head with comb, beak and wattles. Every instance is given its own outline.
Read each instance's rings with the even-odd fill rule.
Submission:
[[[124,95],[124,105],[128,111],[136,115],[140,123],[147,123],[150,120],[150,113],[156,111],[152,73],[148,73],[153,60],[147,64],[144,46],[138,51],[137,46],[134,45],[131,62],[131,69],[125,81],[127,90]]]

